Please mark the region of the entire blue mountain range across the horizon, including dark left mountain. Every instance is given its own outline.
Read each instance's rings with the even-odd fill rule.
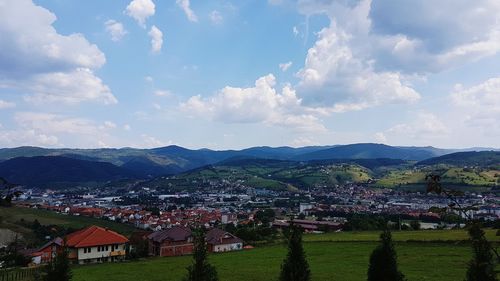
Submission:
[[[477,162],[487,158],[486,154],[489,153],[485,152],[486,154],[477,156],[470,154],[471,152],[462,152],[468,150],[491,149],[454,150],[434,147],[398,147],[373,143],[300,148],[263,146],[242,150],[192,150],[174,145],[152,149],[17,147],[0,149],[0,176],[19,184],[40,185],[54,182],[146,179],[160,175],[179,174],[217,163],[226,162],[226,165],[235,161],[241,163],[241,161],[245,162],[248,159],[286,160],[283,163],[288,161],[356,162],[356,164],[366,167],[379,165],[380,160],[373,161],[373,159],[385,159],[386,162],[403,161],[405,163],[419,161],[418,163],[425,165],[446,161],[457,162],[466,156],[465,158],[472,157]],[[459,152],[459,156],[447,156],[456,152]],[[490,157],[488,163],[495,163],[497,160],[495,154]]]

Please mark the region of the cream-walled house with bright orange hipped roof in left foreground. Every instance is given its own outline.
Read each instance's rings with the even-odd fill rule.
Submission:
[[[128,242],[125,236],[95,225],[66,236],[68,256],[79,264],[122,260]]]

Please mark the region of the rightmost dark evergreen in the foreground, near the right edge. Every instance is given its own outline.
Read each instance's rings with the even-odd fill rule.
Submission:
[[[474,223],[469,229],[472,240],[473,257],[469,262],[466,281],[496,281],[495,264],[491,245],[484,236],[478,223]]]

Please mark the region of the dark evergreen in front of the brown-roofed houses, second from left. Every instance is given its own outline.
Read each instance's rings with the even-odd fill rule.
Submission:
[[[215,267],[208,263],[207,243],[202,229],[193,233],[194,251],[193,263],[187,267],[187,276],[184,281],[218,281]]]

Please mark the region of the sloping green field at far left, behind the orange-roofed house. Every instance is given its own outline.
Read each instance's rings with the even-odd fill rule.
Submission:
[[[63,215],[47,210],[20,207],[0,207],[0,217],[2,217],[2,224],[0,227],[9,228],[25,235],[29,235],[31,230],[18,224],[21,219],[24,219],[27,222],[33,222],[37,219],[43,225],[56,224],[74,229],[87,227],[89,225],[98,225],[101,227],[107,227],[124,235],[131,234],[135,230],[133,226],[127,224],[89,217]]]

